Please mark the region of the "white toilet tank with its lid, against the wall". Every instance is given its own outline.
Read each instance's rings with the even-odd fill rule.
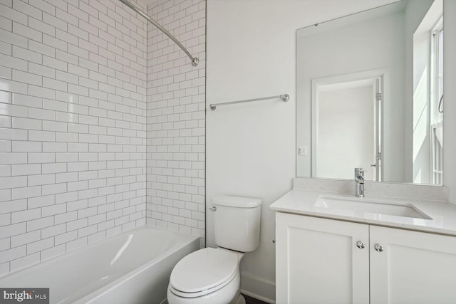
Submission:
[[[259,246],[261,199],[215,196],[214,235],[217,246],[235,251],[254,251]]]

